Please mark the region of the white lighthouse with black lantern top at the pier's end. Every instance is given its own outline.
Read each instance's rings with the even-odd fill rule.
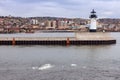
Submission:
[[[96,32],[97,29],[97,15],[94,9],[92,10],[90,14],[91,24],[90,24],[90,32]]]

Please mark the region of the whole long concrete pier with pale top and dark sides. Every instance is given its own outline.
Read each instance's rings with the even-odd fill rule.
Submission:
[[[108,45],[116,40],[109,33],[75,33],[75,37],[0,37],[0,45]]]

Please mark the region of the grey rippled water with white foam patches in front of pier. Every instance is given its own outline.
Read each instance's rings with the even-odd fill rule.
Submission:
[[[117,44],[0,46],[0,80],[120,80],[120,33],[111,34]]]

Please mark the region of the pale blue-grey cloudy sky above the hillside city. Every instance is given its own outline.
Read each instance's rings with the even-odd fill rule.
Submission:
[[[120,0],[0,0],[0,16],[120,18]]]

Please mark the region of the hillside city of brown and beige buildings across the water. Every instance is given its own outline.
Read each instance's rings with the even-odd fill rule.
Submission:
[[[38,30],[76,30],[86,32],[89,19],[59,17],[12,17],[0,16],[0,33],[33,33]],[[97,31],[120,31],[120,19],[98,19]]]

